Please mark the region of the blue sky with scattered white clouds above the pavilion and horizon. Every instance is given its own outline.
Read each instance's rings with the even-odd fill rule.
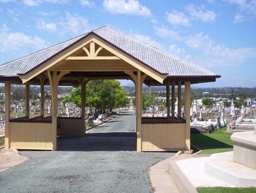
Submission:
[[[0,63],[101,26],[222,75],[198,87],[256,87],[256,0],[0,0]]]

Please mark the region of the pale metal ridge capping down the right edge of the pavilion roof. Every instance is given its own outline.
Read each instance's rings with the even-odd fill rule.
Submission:
[[[118,31],[118,30],[116,30],[116,29],[113,29],[113,28],[109,27],[109,26],[103,26],[103,27],[101,27],[101,28],[109,28],[109,29],[111,29],[111,30],[113,30],[113,31],[115,31],[115,32],[117,32],[117,33],[119,33],[119,34],[122,34],[122,35],[124,35],[124,36],[130,37],[130,38],[135,39],[135,40],[137,40],[137,41],[140,41],[140,42],[142,42],[142,43],[143,43],[144,45],[146,45],[146,46],[153,47],[153,48],[155,48],[155,49],[157,49],[157,50],[159,50],[159,51],[161,51],[161,52],[164,52],[165,54],[172,55],[172,56],[174,56],[174,57],[176,57],[176,58],[178,58],[178,59],[180,59],[180,60],[183,60],[183,61],[185,61],[185,62],[188,62],[189,65],[191,65],[191,66],[195,66],[195,67],[200,68],[201,70],[206,70],[206,71],[208,71],[208,72],[210,72],[210,73],[212,73],[212,74],[216,74],[216,73],[214,73],[214,72],[212,72],[212,71],[209,71],[209,70],[207,70],[207,69],[205,69],[205,68],[203,68],[203,67],[200,67],[200,66],[196,65],[196,64],[193,63],[193,62],[190,62],[190,61],[188,61],[188,60],[186,60],[186,59],[183,59],[183,58],[181,58],[181,57],[179,57],[179,56],[176,56],[176,55],[174,55],[174,54],[172,54],[172,53],[169,53],[169,52],[167,52],[167,51],[165,51],[165,50],[162,50],[162,49],[160,49],[160,48],[157,48],[157,47],[155,47],[155,46],[152,46],[152,45],[150,45],[150,44],[147,44],[146,42],[141,41],[140,39],[137,39],[137,38],[135,38],[135,37],[133,37],[133,36],[131,36],[131,35],[127,35],[127,34],[125,34],[125,33],[122,33],[122,32],[120,32],[120,31]],[[101,29],[101,28],[99,28],[99,29]],[[97,29],[97,30],[99,30],[99,29]],[[97,30],[94,30],[94,31],[97,31]],[[217,74],[216,74],[216,75],[217,75]]]

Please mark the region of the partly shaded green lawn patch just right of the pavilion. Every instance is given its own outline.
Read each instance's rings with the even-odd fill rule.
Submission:
[[[225,133],[226,127],[210,134],[191,134],[191,143],[202,151],[199,154],[215,154],[233,151],[231,133]]]

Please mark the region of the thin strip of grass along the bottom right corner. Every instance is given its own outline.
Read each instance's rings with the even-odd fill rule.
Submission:
[[[199,193],[252,193],[256,192],[256,187],[230,188],[230,187],[198,187]]]

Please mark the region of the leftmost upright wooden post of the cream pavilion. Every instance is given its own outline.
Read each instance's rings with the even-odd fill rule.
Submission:
[[[5,148],[10,148],[9,119],[11,112],[11,82],[5,82]]]

